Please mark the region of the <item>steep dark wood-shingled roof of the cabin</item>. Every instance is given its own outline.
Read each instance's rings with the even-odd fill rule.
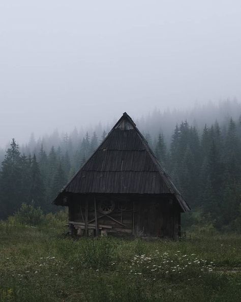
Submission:
[[[105,140],[63,188],[53,204],[71,193],[173,194],[184,212],[190,210],[146,139],[125,112]]]

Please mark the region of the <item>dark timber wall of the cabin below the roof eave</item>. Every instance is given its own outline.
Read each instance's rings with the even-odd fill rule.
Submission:
[[[88,224],[95,224],[95,203],[97,205],[98,225],[110,235],[115,236],[154,236],[178,238],[180,209],[170,196],[108,196],[75,195],[69,203],[69,220],[85,223],[85,206],[88,203]],[[114,210],[108,215],[99,211],[102,200],[111,198]]]

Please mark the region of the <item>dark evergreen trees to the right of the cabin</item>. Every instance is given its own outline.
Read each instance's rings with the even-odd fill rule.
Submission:
[[[241,231],[241,119],[218,122],[201,135],[187,121],[176,125],[170,148],[159,135],[159,161],[192,208],[189,224],[199,211],[202,223],[219,230]],[[193,214],[194,213],[194,214]]]

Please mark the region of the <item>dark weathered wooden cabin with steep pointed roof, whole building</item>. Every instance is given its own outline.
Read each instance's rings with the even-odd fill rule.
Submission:
[[[177,239],[180,213],[190,210],[127,113],[53,204],[69,207],[78,236]]]

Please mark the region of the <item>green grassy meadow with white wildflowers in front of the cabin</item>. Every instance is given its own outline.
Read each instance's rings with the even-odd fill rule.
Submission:
[[[241,236],[64,238],[0,223],[2,301],[240,301]]]

